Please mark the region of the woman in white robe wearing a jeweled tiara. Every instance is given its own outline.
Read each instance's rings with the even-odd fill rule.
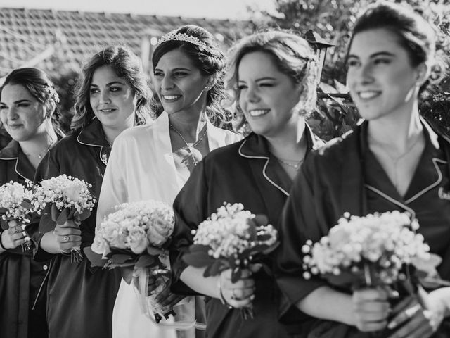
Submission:
[[[152,125],[127,130],[117,139],[98,202],[98,222],[124,202],[155,199],[172,205],[203,156],[238,140],[238,135],[210,122],[224,115],[219,107],[224,97],[224,56],[209,32],[186,25],[163,35],[152,63],[155,89],[165,111]],[[172,294],[167,302],[178,300]],[[193,322],[193,308],[193,299],[176,306],[174,319]],[[176,334],[153,324],[140,311],[133,287],[122,281],[114,336],[195,337],[193,328]]]

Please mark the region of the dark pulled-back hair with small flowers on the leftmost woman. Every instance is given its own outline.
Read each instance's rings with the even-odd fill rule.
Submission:
[[[13,70],[6,76],[3,86],[0,88],[0,97],[4,87],[8,84],[20,84],[25,87],[34,99],[46,107],[46,118],[51,119],[53,127],[60,129],[59,95],[53,82],[43,70],[39,68],[17,68]],[[52,106],[55,108],[51,109]]]

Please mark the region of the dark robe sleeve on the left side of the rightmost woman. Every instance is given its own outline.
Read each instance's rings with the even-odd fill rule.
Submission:
[[[318,172],[313,157],[304,163],[295,178],[281,215],[280,246],[275,267],[276,282],[283,294],[280,302],[281,322],[292,318],[295,312],[293,307],[298,301],[326,285],[322,280],[305,280],[302,277],[302,245],[307,239],[316,242],[323,236],[323,229],[319,225],[323,223],[323,189],[316,177]]]

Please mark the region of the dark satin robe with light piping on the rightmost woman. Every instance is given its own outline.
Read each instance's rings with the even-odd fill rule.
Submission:
[[[367,123],[311,154],[297,176],[283,210],[281,246],[277,255],[277,282],[283,292],[281,320],[295,303],[325,284],[319,278],[302,279],[300,248],[337,224],[348,211],[352,215],[385,211],[409,211],[420,223],[418,230],[431,251],[444,258],[439,273],[450,280],[450,201],[439,196],[449,192],[450,144],[424,123],[426,146],[404,198],[390,182],[367,146]],[[441,193],[439,193],[439,191]],[[315,320],[302,315],[302,325],[314,325],[305,337],[368,337],[354,327]],[[444,332],[446,323],[442,325]],[[442,333],[446,336],[449,332]]]

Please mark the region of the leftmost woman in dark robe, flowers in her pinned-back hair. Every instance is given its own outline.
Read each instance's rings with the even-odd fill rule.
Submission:
[[[0,89],[0,120],[12,141],[0,151],[0,185],[33,180],[41,158],[58,140],[60,132],[52,123],[58,101],[42,70],[19,68],[6,77]],[[47,337],[46,299],[39,289],[49,262],[33,261],[33,246],[22,249],[30,240],[23,230],[16,221],[0,230],[0,335]]]

